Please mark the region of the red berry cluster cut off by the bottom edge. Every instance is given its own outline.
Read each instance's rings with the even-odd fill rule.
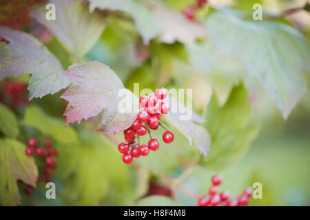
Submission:
[[[230,192],[225,190],[218,195],[218,186],[223,178],[220,175],[214,175],[211,179],[212,186],[209,188],[208,195],[198,199],[198,206],[247,206],[252,195],[252,188],[246,188],[239,197],[232,198]]]

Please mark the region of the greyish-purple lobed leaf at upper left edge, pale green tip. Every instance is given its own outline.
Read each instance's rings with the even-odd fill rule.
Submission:
[[[33,36],[0,27],[0,36],[10,43],[0,43],[0,78],[32,74],[28,89],[30,99],[54,94],[69,85],[57,76],[61,63]]]

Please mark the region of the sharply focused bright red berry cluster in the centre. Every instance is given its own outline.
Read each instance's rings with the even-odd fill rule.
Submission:
[[[163,88],[156,89],[155,94],[140,97],[139,103],[141,111],[138,113],[134,124],[124,131],[126,142],[118,145],[118,151],[123,153],[123,162],[125,164],[130,164],[134,157],[148,155],[149,150],[158,150],[159,142],[156,138],[152,138],[149,129],[156,130],[159,125],[163,126],[159,122],[161,120],[161,114],[169,112],[169,105],[163,102],[163,99],[166,97],[167,90]],[[164,126],[163,128],[165,129]],[[174,140],[174,134],[167,129],[165,130],[165,133],[163,133],[163,141],[169,144]],[[146,133],[149,133],[150,137],[148,145],[140,145],[139,137]],[[138,138],[138,144],[135,142],[136,138]]]

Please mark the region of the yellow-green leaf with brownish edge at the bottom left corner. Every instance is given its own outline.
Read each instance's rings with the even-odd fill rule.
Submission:
[[[25,145],[10,138],[0,139],[0,206],[20,203],[17,180],[36,186],[38,169],[33,157],[25,155]]]

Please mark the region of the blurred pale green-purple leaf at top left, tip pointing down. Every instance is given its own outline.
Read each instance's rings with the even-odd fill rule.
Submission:
[[[32,9],[32,15],[63,43],[74,58],[81,58],[101,36],[105,21],[99,12],[90,13],[81,0],[50,0],[56,8],[56,20],[46,19],[45,5]]]

